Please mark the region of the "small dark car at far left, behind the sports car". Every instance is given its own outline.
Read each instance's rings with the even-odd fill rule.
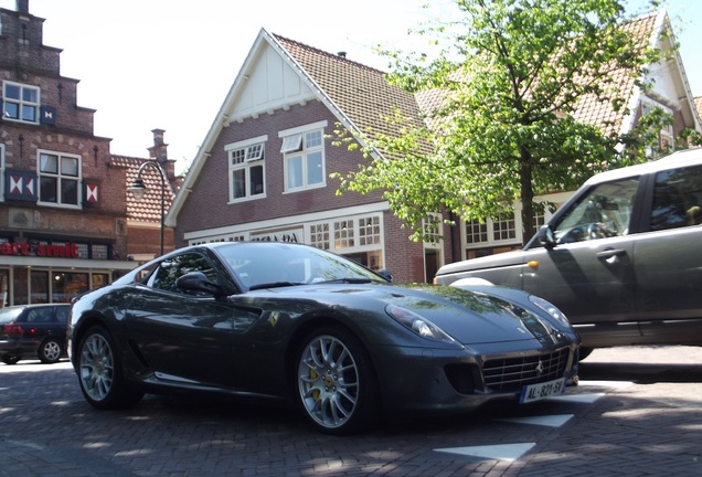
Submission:
[[[14,364],[38,358],[55,363],[65,354],[68,304],[18,305],[0,308],[0,359]]]

